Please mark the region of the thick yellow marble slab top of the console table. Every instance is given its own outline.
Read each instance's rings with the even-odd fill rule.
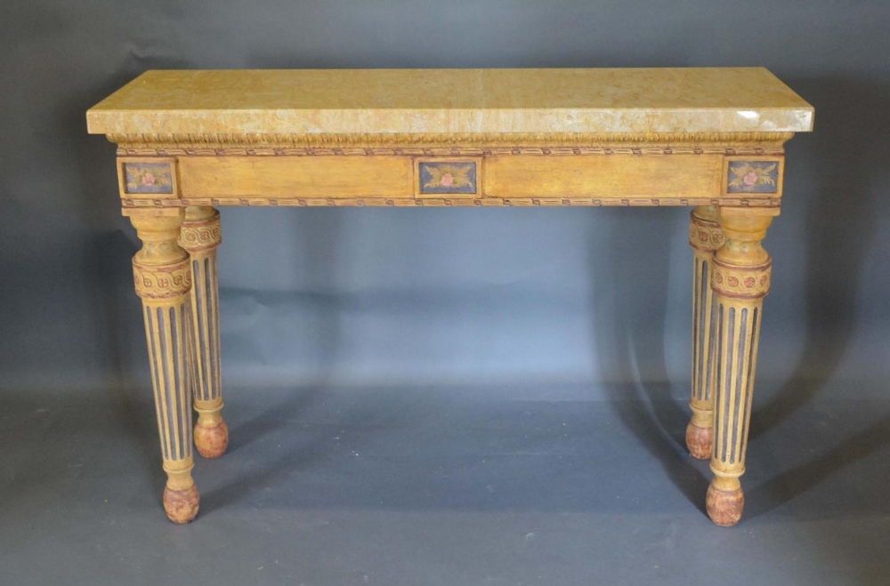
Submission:
[[[152,70],[97,134],[806,132],[765,68]]]

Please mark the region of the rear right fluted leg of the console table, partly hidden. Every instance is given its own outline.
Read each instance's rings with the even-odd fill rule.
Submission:
[[[719,208],[700,205],[689,219],[692,246],[692,420],[686,426],[686,447],[695,458],[711,457],[714,441],[714,295],[711,259],[724,243]]]

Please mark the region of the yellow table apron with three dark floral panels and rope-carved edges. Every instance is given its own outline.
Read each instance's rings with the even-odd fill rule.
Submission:
[[[742,167],[730,169],[729,165],[738,159],[745,159],[741,162],[744,165],[762,163],[774,167],[772,178],[761,173],[765,181],[770,181],[765,190],[759,185],[748,186],[733,176]],[[720,154],[119,157],[118,161],[125,207],[505,202],[778,206],[784,166],[781,155]],[[153,189],[154,185],[134,185],[133,173],[129,173],[134,165],[169,165],[172,186]],[[155,171],[151,181],[156,181],[157,175]],[[136,177],[138,183],[140,175]],[[739,186],[751,189],[737,189]]]

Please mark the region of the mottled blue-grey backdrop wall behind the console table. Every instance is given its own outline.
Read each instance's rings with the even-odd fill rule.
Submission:
[[[85,132],[85,110],[145,69],[756,65],[816,108],[816,132],[789,142],[766,241],[760,421],[828,388],[886,395],[887,6],[6,2],[0,389],[149,392],[114,147]],[[522,381],[603,398],[603,383],[670,381],[684,397],[687,217],[223,209],[226,385]]]

